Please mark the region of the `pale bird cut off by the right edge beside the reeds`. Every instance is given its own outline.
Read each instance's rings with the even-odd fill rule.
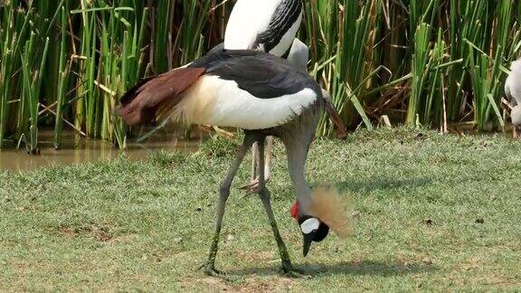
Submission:
[[[521,134],[521,60],[513,61],[505,83],[507,97],[516,103],[510,112],[517,138]]]

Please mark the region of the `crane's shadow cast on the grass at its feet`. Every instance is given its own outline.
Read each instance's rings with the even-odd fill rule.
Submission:
[[[355,276],[382,276],[393,277],[421,272],[431,272],[437,270],[432,265],[387,263],[373,260],[362,260],[360,262],[339,262],[336,264],[304,264],[296,266],[306,275],[328,276],[328,275],[355,275]],[[231,276],[251,276],[253,274],[261,276],[273,276],[281,274],[281,269],[273,267],[251,267],[228,271]]]

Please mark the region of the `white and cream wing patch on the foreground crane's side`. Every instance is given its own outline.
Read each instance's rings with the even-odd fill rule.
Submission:
[[[176,107],[175,119],[196,124],[243,129],[275,128],[300,115],[317,101],[314,90],[259,99],[233,80],[205,76]]]

